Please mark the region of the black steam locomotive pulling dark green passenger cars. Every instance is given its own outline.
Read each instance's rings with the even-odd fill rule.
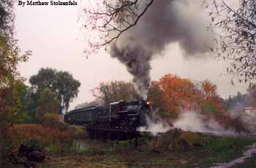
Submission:
[[[139,136],[137,129],[146,126],[150,112],[144,100],[119,101],[72,110],[64,115],[64,123],[85,126],[92,139],[126,140]]]

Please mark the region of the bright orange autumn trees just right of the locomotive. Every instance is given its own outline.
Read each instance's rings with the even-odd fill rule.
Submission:
[[[159,82],[151,83],[148,100],[164,117],[176,118],[180,110],[203,110],[206,103],[218,112],[216,115],[221,115],[222,111],[222,99],[217,95],[216,85],[208,80],[197,85],[187,78],[170,74],[162,77]]]

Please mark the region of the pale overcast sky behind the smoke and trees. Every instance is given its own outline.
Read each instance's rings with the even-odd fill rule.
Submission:
[[[90,90],[100,82],[132,80],[125,67],[110,58],[108,53],[83,57],[86,34],[78,23],[82,9],[80,1],[77,6],[15,5],[18,43],[23,51],[31,50],[33,53],[28,62],[19,65],[21,74],[28,79],[42,67],[70,72],[81,83],[78,98],[72,102],[71,108],[91,101]],[[178,44],[167,47],[164,56],[154,59],[151,66],[153,80],[171,73],[197,81],[211,80],[217,84],[218,93],[224,98],[237,91],[246,92],[247,85],[236,83],[233,86],[230,76],[222,75],[225,72],[222,61],[213,58],[186,60]]]

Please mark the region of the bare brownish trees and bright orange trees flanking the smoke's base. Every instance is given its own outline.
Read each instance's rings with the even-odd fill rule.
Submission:
[[[124,81],[100,83],[91,92],[95,99],[78,104],[75,108],[141,99],[135,91],[135,86]],[[217,86],[209,80],[195,83],[170,74],[151,83],[148,101],[163,118],[177,118],[181,110],[200,110],[214,114],[223,110],[223,99],[217,94]]]

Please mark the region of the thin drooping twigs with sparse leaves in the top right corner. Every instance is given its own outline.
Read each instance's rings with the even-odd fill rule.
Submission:
[[[213,1],[211,28],[219,34],[214,53],[230,63],[227,72],[239,82],[256,77],[256,1],[241,0],[236,4]]]

